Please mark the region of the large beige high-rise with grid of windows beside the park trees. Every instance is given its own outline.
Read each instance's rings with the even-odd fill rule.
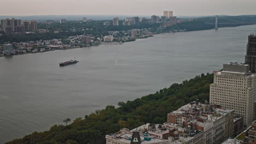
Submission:
[[[256,100],[256,77],[248,64],[223,64],[223,70],[214,73],[210,85],[210,103],[225,109],[234,109],[243,116],[244,127],[253,122],[253,103]]]

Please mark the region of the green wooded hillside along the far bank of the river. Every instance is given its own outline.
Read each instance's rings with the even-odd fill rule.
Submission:
[[[211,19],[211,20],[210,20]],[[3,34],[0,39],[0,44],[9,42],[20,42],[20,41],[35,41],[35,40],[51,40],[51,39],[67,39],[70,36],[82,35],[82,34],[92,34],[95,37],[102,37],[108,35],[109,31],[128,31],[131,29],[148,29],[148,31],[153,33],[168,33],[168,32],[180,32],[180,31],[199,31],[205,29],[213,29],[215,27],[214,17],[201,17],[195,18],[193,21],[185,21],[182,23],[177,23],[177,25],[161,27],[161,23],[149,23],[140,22],[137,25],[123,26],[122,21],[119,21],[119,26],[103,26],[104,21],[90,21],[90,22],[80,22],[80,21],[68,21],[65,23],[55,22],[52,24],[39,23],[39,29],[47,29],[46,33],[32,33],[25,35],[5,35]],[[208,21],[210,20],[210,21]],[[231,21],[233,20],[233,21]],[[206,23],[208,21],[208,23]],[[219,27],[236,27],[242,25],[250,25],[250,23],[241,22],[251,22],[256,23],[255,15],[242,15],[242,16],[222,16],[219,17],[219,23],[229,23],[229,24],[219,24]],[[110,21],[112,23],[112,21]],[[119,35],[122,37],[122,35]]]

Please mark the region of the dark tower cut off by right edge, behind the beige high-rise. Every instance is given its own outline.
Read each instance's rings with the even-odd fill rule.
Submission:
[[[248,36],[245,63],[249,64],[251,73],[256,73],[256,35]]]

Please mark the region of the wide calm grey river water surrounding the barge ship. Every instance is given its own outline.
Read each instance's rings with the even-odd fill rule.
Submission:
[[[0,58],[0,143],[244,62],[255,25]],[[79,63],[59,67],[74,57]]]

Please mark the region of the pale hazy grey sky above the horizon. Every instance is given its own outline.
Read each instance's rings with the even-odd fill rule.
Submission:
[[[256,0],[8,0],[1,5],[0,15],[256,14]]]

